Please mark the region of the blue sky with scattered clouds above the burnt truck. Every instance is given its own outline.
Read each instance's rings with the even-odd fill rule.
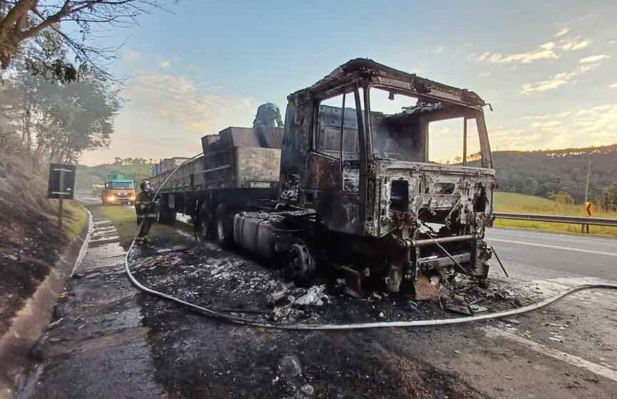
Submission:
[[[106,30],[123,43],[109,68],[126,105],[115,157],[200,152],[200,138],[250,126],[257,105],[285,112],[287,95],[352,58],[372,58],[478,93],[492,150],[617,142],[617,6],[605,1],[183,0]]]

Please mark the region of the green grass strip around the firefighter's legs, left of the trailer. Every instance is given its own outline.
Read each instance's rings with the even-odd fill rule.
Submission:
[[[100,209],[109,219],[111,219],[111,222],[113,222],[116,226],[116,230],[118,230],[121,246],[128,248],[139,228],[135,209],[133,209],[133,207],[124,207],[121,205],[103,204],[92,205],[91,208]],[[173,226],[154,223],[150,229],[149,237],[151,239],[157,239],[160,237],[174,237],[178,235],[178,229],[183,230],[187,234],[193,234],[190,226],[180,222],[176,222]]]

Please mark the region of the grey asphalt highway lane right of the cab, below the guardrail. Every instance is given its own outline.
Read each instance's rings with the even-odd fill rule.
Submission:
[[[511,276],[617,281],[617,239],[502,228],[489,229],[486,237]],[[500,272],[495,259],[491,271]]]

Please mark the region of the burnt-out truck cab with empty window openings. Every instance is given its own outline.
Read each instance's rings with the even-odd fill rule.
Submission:
[[[307,240],[359,281],[377,271],[390,291],[458,273],[484,281],[495,187],[484,105],[349,61],[289,95],[278,201],[314,211],[322,232]]]

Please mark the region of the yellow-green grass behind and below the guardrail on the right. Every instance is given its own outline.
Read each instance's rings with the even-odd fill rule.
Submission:
[[[586,216],[581,204],[564,204],[552,199],[516,192],[495,192],[494,207],[496,212],[519,212],[535,214],[561,214],[565,216]],[[594,217],[615,217],[617,212],[594,209]],[[581,233],[580,224],[532,222],[527,220],[496,219],[496,227],[514,227],[518,229],[539,229],[549,232]],[[590,226],[589,234],[617,237],[617,227]]]

